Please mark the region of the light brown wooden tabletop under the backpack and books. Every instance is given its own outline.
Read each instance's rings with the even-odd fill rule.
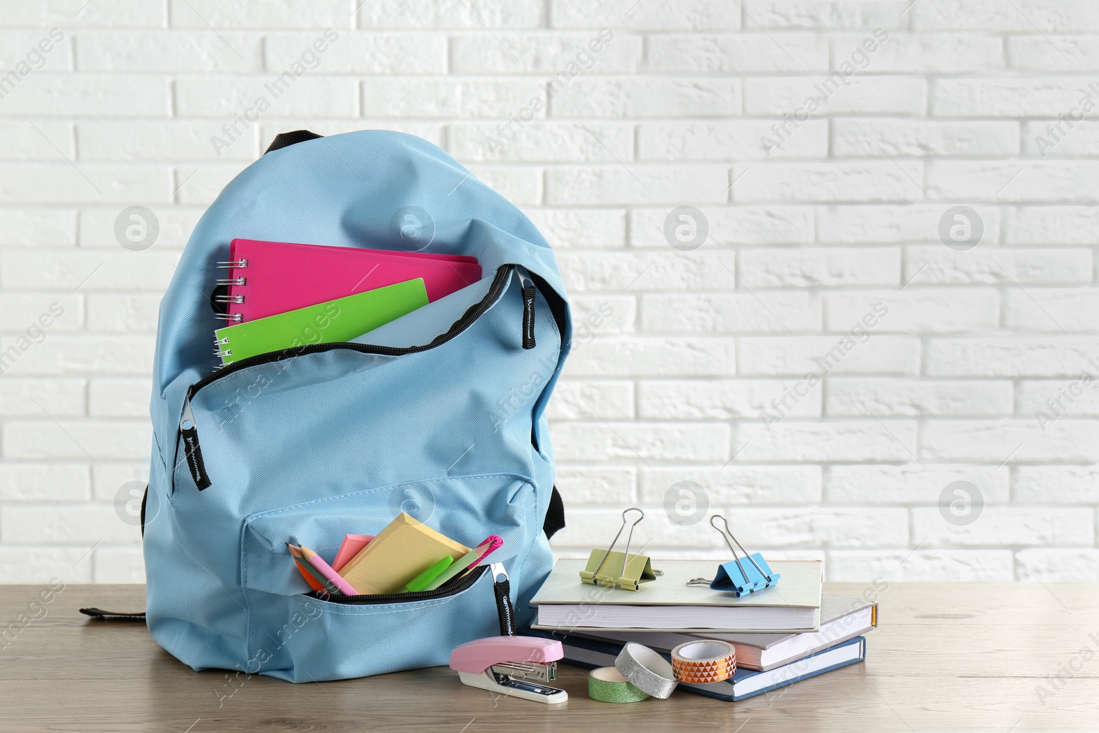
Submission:
[[[879,587],[880,587],[879,581]],[[859,596],[872,584],[826,584]],[[0,587],[0,630],[34,586]],[[497,698],[446,667],[291,685],[195,673],[144,624],[80,607],[144,608],[142,586],[68,586],[0,642],[3,731],[1083,731],[1099,730],[1099,586],[891,584],[865,664],[730,703],[676,692],[604,704],[562,665],[559,706]],[[1087,649],[1085,653],[1084,649]],[[1067,673],[1065,671],[1067,670]],[[1062,673],[1053,682],[1047,676]],[[1039,689],[1047,695],[1040,699]]]

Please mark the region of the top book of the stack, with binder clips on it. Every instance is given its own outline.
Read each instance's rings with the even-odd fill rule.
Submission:
[[[559,559],[531,600],[536,629],[569,631],[803,632],[817,631],[821,603],[818,560],[775,562],[782,584],[766,593],[732,593],[687,582],[712,571],[712,560],[659,560],[664,571],[644,592],[617,593],[576,581],[582,559]]]

